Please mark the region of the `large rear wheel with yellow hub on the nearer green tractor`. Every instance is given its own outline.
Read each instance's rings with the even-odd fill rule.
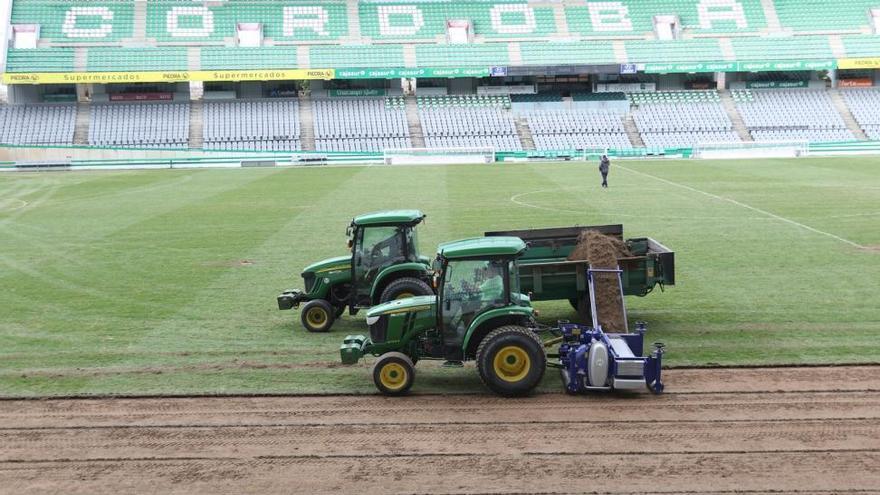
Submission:
[[[528,394],[541,382],[546,367],[547,355],[541,339],[526,327],[496,328],[477,347],[480,379],[499,395]]]

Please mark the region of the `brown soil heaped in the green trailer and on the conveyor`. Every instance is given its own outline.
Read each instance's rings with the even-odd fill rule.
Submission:
[[[578,236],[578,243],[568,256],[569,261],[587,261],[592,268],[616,269],[617,259],[632,256],[626,244],[616,237],[595,230],[585,230]],[[626,330],[623,301],[616,273],[594,273],[596,313],[603,330],[622,332]]]

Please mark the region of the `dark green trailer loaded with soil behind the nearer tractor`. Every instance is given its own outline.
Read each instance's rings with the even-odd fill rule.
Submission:
[[[584,321],[590,319],[586,261],[569,261],[585,230],[623,238],[623,225],[595,225],[486,232],[487,237],[519,237],[529,245],[518,260],[520,287],[532,301],[567,300]],[[675,253],[648,237],[626,239],[632,256],[617,260],[623,270],[623,293],[645,296],[659,286],[675,285]]]

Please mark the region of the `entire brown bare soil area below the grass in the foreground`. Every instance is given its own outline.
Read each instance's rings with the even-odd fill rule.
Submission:
[[[662,396],[0,401],[9,493],[877,493],[880,367]]]

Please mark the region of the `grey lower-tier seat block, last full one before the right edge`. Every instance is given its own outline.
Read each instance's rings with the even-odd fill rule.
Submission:
[[[734,91],[733,98],[756,141],[855,139],[825,90]]]

